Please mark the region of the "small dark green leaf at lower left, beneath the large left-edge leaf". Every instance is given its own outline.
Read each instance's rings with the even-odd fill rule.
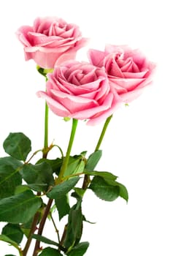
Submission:
[[[8,223],[2,229],[2,234],[8,236],[17,244],[23,240],[23,231],[20,229],[20,225]]]

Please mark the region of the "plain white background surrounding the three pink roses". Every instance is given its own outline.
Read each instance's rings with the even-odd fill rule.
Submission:
[[[82,241],[90,241],[87,256],[170,255],[168,4],[168,0],[1,3],[1,157],[5,156],[2,143],[9,132],[24,132],[33,141],[33,151],[43,144],[44,102],[36,97],[36,91],[45,89],[45,81],[36,72],[34,61],[24,60],[23,46],[15,37],[20,26],[31,26],[38,16],[58,16],[80,26],[83,36],[91,38],[88,48],[103,50],[105,43],[128,44],[157,63],[153,85],[128,108],[117,110],[101,146],[104,154],[98,170],[119,176],[128,188],[129,201],[126,204],[120,198],[107,203],[92,192],[85,195],[85,216],[96,222],[85,224]],[[78,60],[87,60],[88,48],[80,51]],[[50,125],[50,141],[55,138],[65,151],[71,123],[50,113]],[[80,122],[72,154],[82,150],[90,154],[102,125],[87,127]],[[55,239],[50,227],[44,235]],[[0,247],[1,256],[18,253],[1,242]]]

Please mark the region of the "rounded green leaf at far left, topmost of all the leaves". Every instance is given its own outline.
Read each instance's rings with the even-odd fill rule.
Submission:
[[[26,161],[26,157],[31,151],[31,140],[22,132],[13,132],[9,133],[3,146],[4,151],[11,157]]]

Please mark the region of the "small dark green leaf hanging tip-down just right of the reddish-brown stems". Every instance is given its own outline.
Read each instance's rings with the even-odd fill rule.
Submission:
[[[59,220],[61,220],[66,214],[69,214],[70,206],[67,195],[63,195],[63,197],[55,198],[55,206],[58,209]]]

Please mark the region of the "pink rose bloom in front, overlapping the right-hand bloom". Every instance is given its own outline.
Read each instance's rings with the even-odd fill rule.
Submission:
[[[47,77],[47,91],[37,95],[58,116],[88,119],[88,124],[95,125],[111,116],[120,103],[104,69],[92,64],[66,61]]]

